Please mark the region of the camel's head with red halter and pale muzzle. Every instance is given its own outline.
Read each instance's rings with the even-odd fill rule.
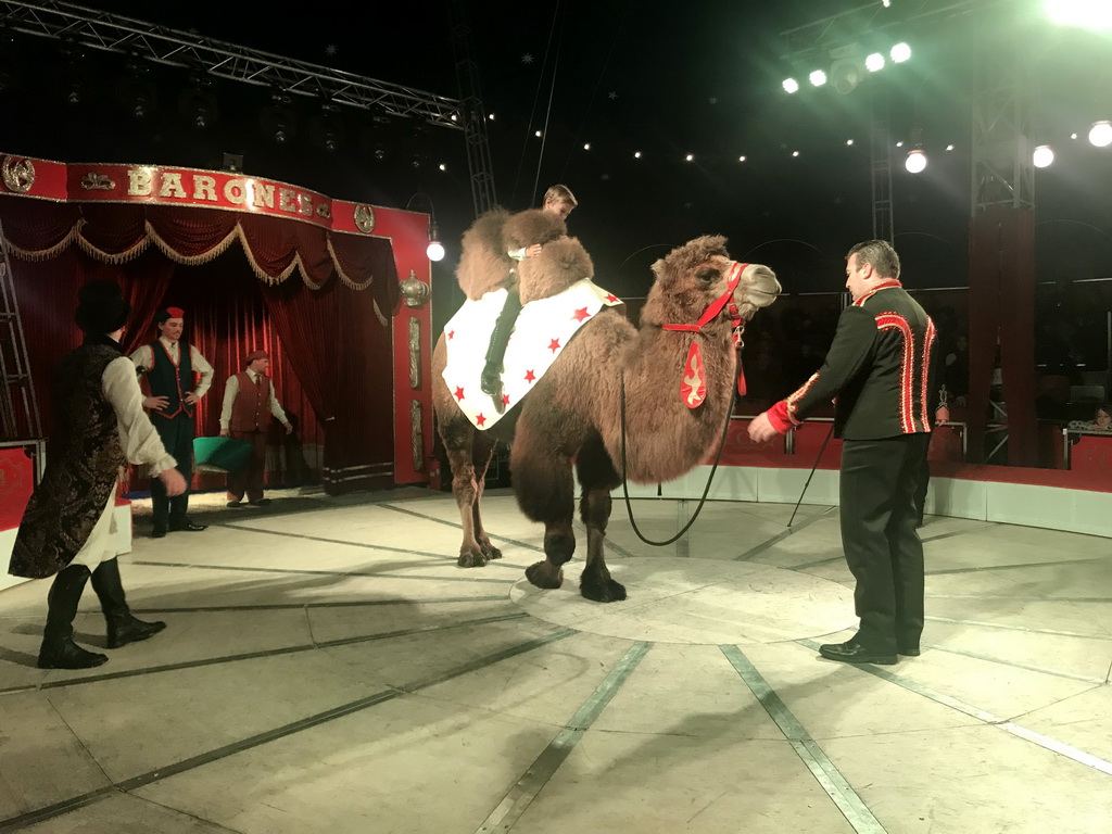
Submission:
[[[673,249],[653,265],[653,272],[656,282],[642,311],[645,324],[695,325],[706,316],[748,320],[780,295],[780,281],[768,267],[731,260],[726,239],[718,236]],[[733,278],[737,280],[731,294]],[[731,306],[736,316],[731,316]]]

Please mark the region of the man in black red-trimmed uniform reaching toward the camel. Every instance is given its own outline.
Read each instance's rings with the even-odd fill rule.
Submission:
[[[931,439],[929,409],[934,324],[900,284],[900,258],[884,240],[857,244],[846,258],[853,305],[838,319],[822,368],[758,416],[749,437],[764,443],[836,398],[843,438],[842,546],[857,580],[857,634],[820,646],[847,663],[893,664],[917,655],[923,632],[923,543],[915,489]]]

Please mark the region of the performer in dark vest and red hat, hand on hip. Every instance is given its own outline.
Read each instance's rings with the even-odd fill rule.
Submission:
[[[212,385],[212,366],[196,347],[181,340],[185,315],[179,307],[160,310],[155,317],[158,338],[131,354],[131,361],[140,374],[147,375],[150,385],[151,396],[143,399],[143,408],[150,409],[150,421],[189,484],[193,470],[193,408]],[[196,388],[195,374],[200,377]],[[162,484],[151,480],[150,497],[155,517],[151,536],[155,538],[161,538],[167,532],[196,533],[208,527],[189,520],[188,489],[169,498]]]

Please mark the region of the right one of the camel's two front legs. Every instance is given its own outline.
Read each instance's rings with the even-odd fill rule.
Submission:
[[[579,517],[587,528],[587,564],[579,578],[579,593],[596,603],[620,602],[626,598],[625,586],[610,578],[604,545],[610,519],[610,490],[622,479],[597,435],[579,449],[575,468],[583,486]]]

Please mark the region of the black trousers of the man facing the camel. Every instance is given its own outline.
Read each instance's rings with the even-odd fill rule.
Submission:
[[[857,641],[868,648],[917,646],[923,633],[923,543],[916,489],[927,434],[842,445],[842,546],[861,617]]]

